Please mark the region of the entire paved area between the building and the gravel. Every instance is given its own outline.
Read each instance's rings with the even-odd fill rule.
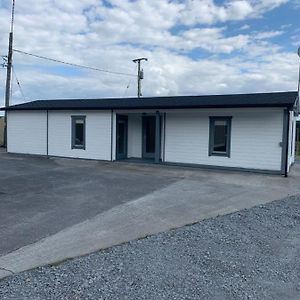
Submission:
[[[0,152],[0,278],[300,194],[288,178]]]

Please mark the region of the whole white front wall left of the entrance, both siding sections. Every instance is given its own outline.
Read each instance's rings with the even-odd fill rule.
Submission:
[[[86,149],[71,149],[71,116],[86,116]],[[8,113],[8,152],[47,155],[47,113]],[[111,160],[110,111],[49,111],[48,154],[52,156]]]

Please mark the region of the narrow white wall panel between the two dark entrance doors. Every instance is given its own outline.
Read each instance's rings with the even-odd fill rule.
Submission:
[[[128,157],[142,157],[141,115],[128,115]]]

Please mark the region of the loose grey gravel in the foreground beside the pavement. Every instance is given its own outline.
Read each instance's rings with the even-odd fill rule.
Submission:
[[[300,196],[0,281],[1,299],[300,299]]]

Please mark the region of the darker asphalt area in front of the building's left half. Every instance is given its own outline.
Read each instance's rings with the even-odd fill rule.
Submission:
[[[178,180],[111,163],[0,150],[0,256]]]

